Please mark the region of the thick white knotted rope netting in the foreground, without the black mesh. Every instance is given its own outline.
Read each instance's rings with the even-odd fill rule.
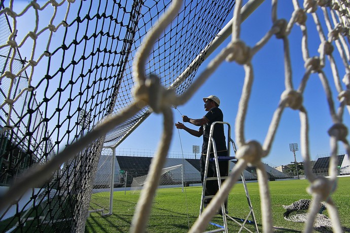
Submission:
[[[63,1],[64,2],[64,1]],[[62,2],[62,3],[63,3]],[[69,4],[75,1],[67,1],[67,13],[69,13]],[[173,117],[172,106],[180,106],[186,103],[193,94],[199,89],[199,87],[211,76],[211,74],[217,69],[217,67],[224,62],[236,62],[244,68],[246,73],[244,77],[244,86],[242,89],[241,98],[239,101],[239,109],[236,115],[235,121],[235,138],[238,147],[236,157],[238,162],[231,171],[230,177],[224,182],[220,193],[213,199],[213,201],[207,206],[201,216],[196,220],[195,224],[191,227],[190,232],[202,232],[205,227],[216,214],[216,210],[219,208],[222,202],[226,200],[229,191],[232,189],[236,181],[239,179],[240,174],[247,166],[256,166],[257,176],[260,188],[261,197],[261,212],[262,212],[262,225],[264,232],[272,232],[272,213],[271,213],[271,199],[268,188],[268,179],[264,169],[264,165],[261,159],[268,156],[271,146],[274,140],[274,136],[277,131],[277,127],[281,120],[282,114],[286,108],[291,108],[299,112],[300,119],[300,141],[301,141],[301,154],[304,160],[305,175],[310,182],[307,189],[310,195],[312,195],[312,204],[308,211],[308,218],[305,223],[305,232],[312,232],[314,219],[319,212],[319,205],[321,202],[325,202],[332,221],[332,228],[334,232],[341,232],[342,228],[339,221],[339,215],[337,209],[332,201],[331,195],[336,187],[336,175],[337,164],[336,156],[338,151],[338,143],[340,142],[345,148],[347,154],[350,154],[350,146],[346,139],[348,130],[346,125],[348,123],[343,122],[343,115],[350,112],[350,51],[349,51],[349,26],[350,26],[350,1],[348,0],[305,0],[298,1],[293,0],[294,13],[291,18],[284,19],[279,18],[277,14],[277,3],[283,5],[283,1],[272,0],[271,1],[271,20],[273,26],[269,31],[253,46],[247,46],[240,38],[241,30],[241,18],[240,10],[242,7],[241,0],[236,1],[233,14],[232,23],[232,40],[231,42],[207,65],[207,67],[198,75],[197,79],[188,87],[188,89],[181,95],[177,95],[173,89],[167,89],[159,83],[159,79],[155,75],[150,75],[146,79],[145,64],[151,53],[153,44],[157,40],[158,36],[164,31],[164,28],[171,23],[172,19],[178,14],[179,9],[182,7],[182,1],[173,1],[171,7],[168,8],[166,13],[159,19],[151,30],[147,32],[146,39],[143,41],[141,48],[138,49],[137,56],[134,59],[133,65],[133,77],[135,86],[133,89],[134,101],[118,114],[111,115],[103,122],[99,123],[92,131],[85,134],[72,146],[68,146],[57,154],[49,163],[45,166],[30,169],[25,176],[25,179],[19,180],[15,183],[7,193],[0,200],[0,208],[4,208],[6,203],[14,200],[20,196],[25,190],[30,188],[33,184],[40,184],[45,181],[44,177],[50,176],[63,162],[68,161],[76,156],[80,151],[86,148],[91,142],[99,138],[103,138],[111,129],[118,125],[123,124],[138,111],[146,106],[152,108],[155,113],[163,114],[163,135],[161,137],[161,144],[155,155],[154,160],[150,166],[149,176],[147,178],[145,187],[142,191],[141,198],[139,199],[132,222],[132,232],[145,231],[148,217],[150,215],[152,200],[154,198],[158,183],[161,177],[162,167],[166,160],[167,151],[172,138],[173,131]],[[49,3],[48,3],[49,4]],[[56,11],[60,4],[55,1],[51,1]],[[37,6],[35,3],[31,4],[34,8]],[[45,8],[47,5],[43,6]],[[40,9],[38,9],[40,10]],[[11,15],[13,12],[7,11],[7,14]],[[54,14],[55,15],[55,14]],[[308,47],[308,33],[306,22],[306,16],[311,17],[314,22],[314,27],[319,34],[319,54],[317,56],[310,56]],[[16,19],[16,18],[14,18]],[[52,20],[54,17],[52,18]],[[321,23],[321,19],[325,23]],[[326,27],[324,27],[326,25]],[[52,21],[48,27],[41,31],[34,30],[28,33],[27,37],[33,38],[33,52],[29,59],[29,62],[20,69],[17,73],[5,72],[2,77],[7,76],[10,79],[15,80],[15,77],[20,75],[25,69],[34,69],[36,64],[45,56],[50,56],[43,52],[38,59],[34,59],[34,51],[36,48],[35,38],[47,31],[52,37],[52,33],[59,27],[65,27],[66,24],[61,22],[56,26]],[[293,82],[292,75],[292,61],[290,59],[290,41],[289,34],[293,27],[297,27],[301,31],[301,49],[304,60],[304,76],[300,83]],[[13,36],[13,35],[12,35]],[[248,110],[248,102],[252,92],[252,85],[254,83],[254,66],[252,59],[259,51],[266,45],[272,36],[276,36],[284,48],[284,65],[285,65],[285,90],[281,93],[281,100],[274,112],[271,119],[268,133],[263,142],[256,140],[248,141],[244,134],[244,120],[246,118]],[[312,40],[314,43],[317,40]],[[20,46],[14,41],[9,40],[8,45],[15,48]],[[4,46],[0,47],[3,48]],[[338,51],[341,58],[340,64],[336,62],[334,58],[335,51]],[[49,51],[49,43],[47,45],[47,51]],[[16,50],[13,50],[12,59],[15,57]],[[332,75],[327,76],[324,72],[325,64],[328,63],[332,69]],[[340,67],[341,66],[341,67]],[[345,73],[342,77],[339,75],[339,69],[341,73]],[[303,92],[311,73],[317,73],[319,79],[323,85],[325,96],[329,105],[329,112],[333,121],[333,126],[330,127],[328,134],[331,144],[331,161],[329,167],[330,178],[316,177],[311,172],[310,154],[309,154],[309,141],[308,141],[308,114],[307,109],[303,105]],[[28,86],[19,92],[15,98],[10,96],[0,106],[9,108],[7,127],[4,129],[12,129],[11,127],[11,108],[13,104],[27,91],[32,91],[31,79],[32,72],[30,72],[28,78]],[[334,100],[332,97],[329,82],[334,82],[338,93],[338,99]],[[9,91],[11,93],[11,90]],[[347,110],[347,111],[346,111]]]

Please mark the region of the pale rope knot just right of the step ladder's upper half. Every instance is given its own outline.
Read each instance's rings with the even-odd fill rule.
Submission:
[[[257,165],[263,157],[263,149],[258,141],[252,140],[241,146],[236,152],[237,159],[243,159],[249,166]]]

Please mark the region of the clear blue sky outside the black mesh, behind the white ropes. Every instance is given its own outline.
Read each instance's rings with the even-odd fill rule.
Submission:
[[[271,1],[265,1],[246,21],[242,23],[241,39],[249,46],[254,46],[260,38],[271,28],[272,20],[270,16]],[[293,12],[291,2],[283,2],[279,5],[278,18],[290,19]],[[318,12],[320,13],[320,12]],[[322,16],[322,15],[321,15]],[[309,16],[307,29],[309,33],[309,51],[310,56],[319,56],[317,49],[320,45],[320,39],[316,34],[313,20]],[[220,48],[214,52],[208,61],[215,57],[218,52],[224,48],[231,40],[229,37]],[[293,67],[293,85],[297,89],[300,80],[305,72],[304,61],[301,54],[301,30],[299,26],[294,26],[289,36],[291,47],[292,67]],[[338,56],[335,51],[334,56]],[[283,63],[283,42],[277,40],[274,36],[268,44],[260,50],[252,60],[254,66],[255,80],[253,91],[249,101],[249,110],[246,119],[246,129],[244,131],[246,140],[258,140],[263,143],[274,110],[280,100],[284,86],[284,63]],[[344,66],[338,62],[340,77],[344,74]],[[200,69],[200,70],[201,70]],[[199,70],[199,72],[200,72]],[[324,68],[329,83],[332,86],[333,100],[337,107],[337,92],[334,89],[333,77],[330,72],[330,65],[327,62]],[[199,74],[197,73],[197,76]],[[193,98],[183,106],[178,106],[182,114],[190,118],[202,118],[206,113],[203,108],[203,97],[208,95],[217,95],[221,100],[220,108],[224,113],[224,121],[230,123],[232,129],[238,109],[242,86],[244,81],[244,71],[242,66],[236,63],[224,62],[209,78],[209,80],[197,91]],[[344,86],[343,86],[344,87]],[[316,159],[318,156],[330,153],[328,129],[332,126],[332,120],[329,113],[329,107],[326,95],[321,81],[317,74],[311,74],[304,92],[304,106],[307,109],[309,117],[309,142],[310,156]],[[173,109],[175,121],[182,122],[181,114]],[[119,147],[137,148],[137,149],[156,149],[161,135],[161,124],[163,118],[161,115],[153,113],[141,126],[139,126]],[[349,112],[344,111],[343,122],[348,125],[350,122]],[[197,127],[187,124],[192,129]],[[179,135],[180,134],[180,135]],[[234,139],[234,131],[231,137]],[[180,140],[181,139],[181,140]],[[180,142],[181,141],[181,142]],[[171,151],[192,152],[192,145],[200,145],[202,138],[189,135],[187,132],[178,131],[174,127],[173,138],[171,142]],[[293,153],[289,149],[290,143],[298,143],[299,151],[296,152],[297,161],[302,161],[300,154],[300,121],[299,112],[290,108],[285,109],[282,120],[279,123],[277,134],[271,152],[264,162],[272,165],[285,165],[294,161]],[[344,152],[344,148],[339,144],[339,153]]]

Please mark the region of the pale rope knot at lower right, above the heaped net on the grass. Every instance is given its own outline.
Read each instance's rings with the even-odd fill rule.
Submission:
[[[310,195],[321,195],[321,201],[327,201],[328,197],[335,190],[335,185],[326,177],[317,177],[306,189]]]

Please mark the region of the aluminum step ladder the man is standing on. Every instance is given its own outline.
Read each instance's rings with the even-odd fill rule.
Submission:
[[[213,139],[213,131],[214,131],[215,124],[227,125],[227,128],[228,128],[227,129],[227,156],[218,156],[218,151],[216,149],[215,140]],[[214,197],[214,196],[205,196],[206,182],[208,180],[217,180],[219,190],[220,190],[221,189],[221,180],[222,179],[224,180],[227,178],[227,176],[220,177],[219,161],[229,162],[231,160],[236,160],[235,157],[230,157],[231,145],[232,145],[233,151],[235,153],[237,149],[236,149],[236,145],[235,145],[234,141],[231,139],[231,126],[230,126],[230,124],[227,122],[214,122],[211,126],[211,130],[209,133],[209,143],[208,143],[208,148],[207,148],[207,153],[206,153],[207,156],[206,156],[206,160],[205,160],[205,170],[204,170],[202,197],[201,197],[201,202],[200,202],[199,215],[201,215],[203,210],[204,210],[204,201],[206,199],[212,199]],[[210,158],[210,156],[208,156],[210,154],[212,146],[213,146],[213,151],[214,151],[214,158]],[[216,177],[207,177],[209,163],[215,163],[216,174],[217,174]],[[229,174],[229,169],[230,169],[230,166],[228,166],[227,174]],[[248,192],[248,188],[247,188],[246,179],[244,178],[243,173],[240,175],[240,177],[242,179],[244,191],[246,192],[246,197],[247,197],[247,201],[248,201],[248,206],[249,206],[248,215],[244,219],[237,218],[237,217],[231,217],[228,213],[225,212],[226,211],[225,210],[225,203],[222,203],[221,204],[221,214],[222,214],[223,224],[221,225],[221,224],[211,222],[210,224],[212,224],[218,228],[214,229],[214,230],[205,231],[205,232],[221,232],[221,231],[223,231],[225,233],[228,233],[229,231],[228,231],[228,226],[227,226],[227,219],[230,219],[240,226],[240,229],[238,230],[238,232],[241,232],[243,229],[245,229],[246,231],[251,232],[251,233],[253,233],[253,232],[259,233],[259,229],[258,229],[258,225],[257,225],[256,219],[255,219],[253,206],[252,206],[251,199],[250,199],[249,192]],[[226,206],[227,206],[227,204],[228,203],[226,200]],[[252,220],[249,220],[250,217],[252,218]],[[254,224],[255,231],[251,231],[249,228],[247,228],[246,223]]]

